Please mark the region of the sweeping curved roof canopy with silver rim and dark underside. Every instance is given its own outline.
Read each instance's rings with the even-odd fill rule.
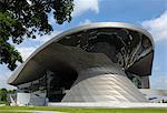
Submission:
[[[41,78],[46,70],[80,70],[114,63],[126,72],[150,75],[154,40],[146,30],[120,22],[99,22],[65,31],[37,49],[13,72],[9,84]]]

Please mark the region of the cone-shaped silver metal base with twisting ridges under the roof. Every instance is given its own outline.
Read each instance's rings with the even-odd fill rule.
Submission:
[[[92,68],[82,71],[61,102],[147,102],[127,76],[114,68]]]

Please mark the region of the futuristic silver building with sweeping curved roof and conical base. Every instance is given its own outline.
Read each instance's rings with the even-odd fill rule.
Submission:
[[[91,23],[41,45],[8,83],[19,89],[19,100],[33,105],[45,105],[46,99],[147,102],[138,89],[149,89],[153,59],[154,40],[146,30],[120,22]]]

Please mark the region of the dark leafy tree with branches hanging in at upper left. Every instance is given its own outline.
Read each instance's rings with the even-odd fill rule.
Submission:
[[[73,0],[0,0],[0,64],[12,71],[22,62],[18,50],[11,44],[21,43],[24,38],[35,39],[53,31],[48,14],[53,13],[56,23],[71,21]]]

